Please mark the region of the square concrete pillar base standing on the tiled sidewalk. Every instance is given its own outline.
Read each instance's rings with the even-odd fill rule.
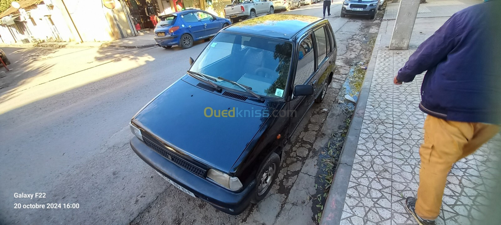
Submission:
[[[395,27],[391,35],[390,50],[406,50],[416,22],[420,0],[401,0],[398,8]]]

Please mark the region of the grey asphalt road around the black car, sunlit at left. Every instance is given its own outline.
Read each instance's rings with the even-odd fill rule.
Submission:
[[[288,13],[321,17],[320,4]],[[338,55],[345,54],[347,37],[358,32],[365,19],[336,18],[341,5],[331,9],[328,19],[337,35]],[[205,46],[201,42],[187,50],[4,48],[14,71],[0,80],[0,224],[236,224],[251,221],[249,215],[263,224],[281,223],[277,215],[264,221],[266,207],[273,203],[230,216],[191,199],[166,183],[128,145],[133,136],[130,118],[181,77],[189,68],[188,57],[196,58]],[[15,197],[16,193],[45,197]],[[268,201],[280,202],[275,198],[281,196]],[[46,203],[78,203],[79,208],[15,208]],[[169,208],[170,212],[162,211]],[[145,216],[151,219],[141,220]]]

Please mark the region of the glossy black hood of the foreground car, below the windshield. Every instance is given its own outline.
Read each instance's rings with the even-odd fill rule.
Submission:
[[[267,120],[267,117],[239,115],[241,110],[269,109],[247,102],[179,80],[138,112],[133,122],[181,154],[227,173]],[[215,117],[214,114],[207,117],[209,108],[216,111],[234,108],[235,114],[234,117]]]

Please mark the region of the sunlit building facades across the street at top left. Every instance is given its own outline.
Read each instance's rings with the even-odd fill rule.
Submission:
[[[18,0],[0,14],[0,43],[109,42],[155,28],[158,16],[201,9],[224,17],[229,0]],[[114,6],[110,7],[110,6]],[[112,9],[109,9],[109,8]]]

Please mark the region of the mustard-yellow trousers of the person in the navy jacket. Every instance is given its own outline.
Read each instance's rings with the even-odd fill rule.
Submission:
[[[424,142],[419,148],[421,169],[416,213],[435,219],[440,213],[447,174],[452,165],[468,156],[499,131],[496,125],[447,121],[428,115]]]

